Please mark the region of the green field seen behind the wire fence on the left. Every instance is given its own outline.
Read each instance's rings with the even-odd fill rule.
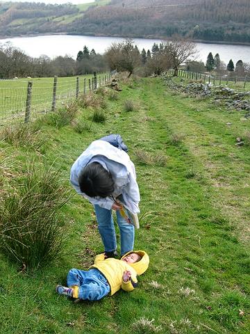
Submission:
[[[103,75],[98,74],[101,82]],[[86,79],[86,90],[89,90],[88,79],[92,80],[92,74],[79,76],[79,92],[83,93],[84,79]],[[14,118],[23,118],[26,107],[26,94],[28,81],[33,82],[31,98],[31,115],[51,110],[53,97],[53,77],[33,78],[17,80],[0,80],[0,123],[12,122]],[[91,81],[92,83],[92,81]],[[76,77],[58,77],[56,97],[58,104],[65,102],[65,99],[76,95]]]

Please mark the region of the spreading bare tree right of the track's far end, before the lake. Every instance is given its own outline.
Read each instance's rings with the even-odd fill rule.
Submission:
[[[198,53],[196,45],[191,40],[176,37],[163,41],[165,56],[169,57],[174,68],[174,76],[178,75],[178,67],[185,63],[189,57],[194,59]]]

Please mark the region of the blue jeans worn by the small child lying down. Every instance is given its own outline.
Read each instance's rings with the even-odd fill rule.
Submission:
[[[88,301],[98,301],[110,292],[108,280],[98,269],[70,269],[67,274],[67,286],[72,285],[79,287],[78,298]]]

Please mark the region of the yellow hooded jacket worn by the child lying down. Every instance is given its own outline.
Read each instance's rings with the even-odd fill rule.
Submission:
[[[130,253],[137,253],[142,258],[140,261],[135,263],[127,263],[122,261],[126,255]],[[110,294],[113,295],[119,289],[124,289],[129,292],[135,289],[135,285],[138,282],[136,276],[141,275],[149,267],[149,255],[143,250],[131,251],[123,255],[121,260],[114,259],[109,257],[108,259],[104,258],[104,254],[99,254],[94,259],[94,264],[90,268],[97,268],[108,280],[110,285]],[[125,270],[131,271],[131,279],[128,282],[124,282],[122,275]]]

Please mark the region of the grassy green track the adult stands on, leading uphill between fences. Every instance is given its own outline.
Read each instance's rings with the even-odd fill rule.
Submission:
[[[29,274],[0,257],[0,333],[249,333],[250,146],[235,138],[250,120],[209,99],[176,95],[159,78],[131,79],[122,88],[118,100],[106,95],[106,122],[89,131],[44,122],[47,141],[38,151],[0,142],[2,157],[16,161],[4,182],[34,159],[60,168],[70,188],[69,169],[87,145],[122,134],[142,198],[135,249],[149,253],[150,267],[131,293],[92,303],[58,296],[67,271],[87,269],[103,251],[92,206],[72,190],[62,209],[63,256]],[[90,122],[92,113],[83,109],[78,121]]]

